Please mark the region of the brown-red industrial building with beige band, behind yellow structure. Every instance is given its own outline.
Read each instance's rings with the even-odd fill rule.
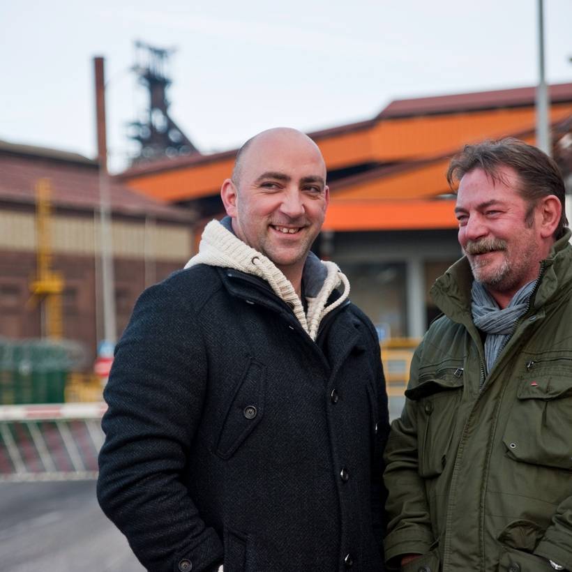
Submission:
[[[104,338],[100,173],[77,155],[0,142],[0,338],[80,343],[91,370]],[[180,269],[192,216],[110,181],[116,336],[144,287]]]

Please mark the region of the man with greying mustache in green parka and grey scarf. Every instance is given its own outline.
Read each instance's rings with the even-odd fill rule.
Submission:
[[[518,140],[449,166],[465,257],[386,449],[386,558],[411,572],[572,570],[572,248],[557,165]]]

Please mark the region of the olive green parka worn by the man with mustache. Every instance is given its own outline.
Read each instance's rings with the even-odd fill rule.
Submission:
[[[570,236],[487,375],[467,259],[431,289],[445,315],[416,349],[386,448],[386,559],[424,555],[403,571],[572,570]]]

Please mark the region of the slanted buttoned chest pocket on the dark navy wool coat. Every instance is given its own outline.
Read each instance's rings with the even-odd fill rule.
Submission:
[[[266,368],[253,358],[248,359],[239,383],[227,408],[215,453],[228,459],[243,444],[264,416]]]

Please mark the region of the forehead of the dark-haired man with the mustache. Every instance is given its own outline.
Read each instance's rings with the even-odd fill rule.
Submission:
[[[468,209],[490,202],[524,203],[519,185],[518,174],[511,167],[499,167],[494,176],[477,167],[460,180],[457,207]]]

